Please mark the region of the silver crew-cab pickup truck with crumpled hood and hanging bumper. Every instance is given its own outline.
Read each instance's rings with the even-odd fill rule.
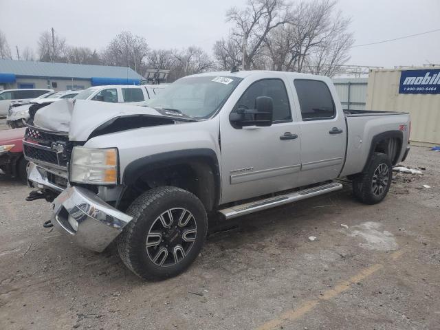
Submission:
[[[117,241],[135,274],[167,278],[195,260],[208,218],[332,192],[340,177],[363,203],[382,201],[409,129],[408,113],[343,111],[327,77],[197,74],[148,107],[63,100],[37,111],[23,142],[28,199],[53,201],[45,225],[67,239],[98,252]]]

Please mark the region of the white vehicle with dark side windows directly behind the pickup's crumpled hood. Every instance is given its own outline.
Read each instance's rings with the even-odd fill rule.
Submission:
[[[130,103],[144,105],[144,102],[154,98],[167,85],[107,85],[85,89],[74,98],[77,100],[92,100],[111,103]]]

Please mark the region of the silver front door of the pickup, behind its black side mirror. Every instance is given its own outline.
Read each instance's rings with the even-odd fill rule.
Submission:
[[[300,170],[299,128],[292,120],[292,99],[289,100],[284,76],[279,76],[252,79],[248,84],[243,81],[230,98],[238,99],[231,104],[233,112],[254,109],[257,97],[269,96],[274,102],[272,126],[236,128],[229,121],[229,111],[221,112],[221,203],[296,185]]]

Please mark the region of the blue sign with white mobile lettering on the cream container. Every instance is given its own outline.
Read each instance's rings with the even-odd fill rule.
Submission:
[[[440,94],[440,69],[402,71],[399,94]]]

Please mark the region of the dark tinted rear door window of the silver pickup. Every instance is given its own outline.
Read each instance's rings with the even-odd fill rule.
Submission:
[[[335,104],[329,87],[320,80],[294,80],[303,120],[324,120],[335,117]]]

